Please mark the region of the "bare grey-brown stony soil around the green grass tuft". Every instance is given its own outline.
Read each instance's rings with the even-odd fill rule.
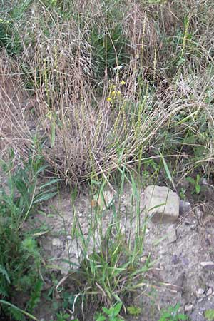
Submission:
[[[143,190],[141,200],[143,203]],[[143,257],[151,253],[151,260],[157,260],[148,273],[152,287],[146,292],[139,291],[133,305],[141,307],[138,320],[156,321],[160,310],[180,303],[180,311],[189,315],[192,321],[205,320],[205,310],[214,308],[214,203],[213,188],[208,189],[208,197],[204,202],[190,200],[189,210],[180,215],[174,224],[163,225],[148,222]],[[193,203],[194,202],[194,203]],[[117,202],[116,202],[117,203]],[[91,198],[87,192],[82,192],[76,199],[76,212],[83,234],[87,236],[88,222],[91,219]],[[126,224],[125,217],[131,208],[131,189],[128,185],[121,198],[121,225],[124,233],[128,233],[131,225]],[[70,268],[65,260],[79,264],[81,246],[71,239],[74,213],[71,207],[71,195],[63,193],[44,208],[46,217],[40,215],[40,222],[45,222],[51,231],[41,236],[41,247],[44,250],[46,262],[57,265],[62,275]],[[111,210],[103,217],[103,230],[108,226]],[[127,219],[127,217],[126,217]],[[176,233],[171,240],[169,229]],[[89,248],[93,244],[89,243]],[[41,317],[44,317],[41,313]],[[86,320],[90,317],[86,316]],[[134,317],[125,317],[134,320]],[[44,317],[44,320],[49,321]]]

